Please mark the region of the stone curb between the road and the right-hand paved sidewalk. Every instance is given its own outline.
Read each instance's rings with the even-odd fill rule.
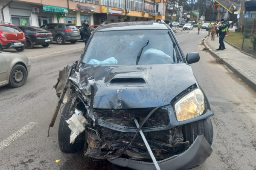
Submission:
[[[204,42],[203,45],[205,46],[205,48],[207,48],[209,53],[212,54],[212,56],[217,59],[221,58],[218,56],[218,54],[215,53],[215,51],[213,51],[211,48],[209,48],[209,46],[205,42],[206,40],[207,40],[207,37],[205,39],[203,39],[203,42]],[[223,59],[223,64],[226,65],[227,68],[229,68],[234,74],[236,74],[237,77],[239,77],[241,80],[243,80],[250,88],[252,88],[254,91],[256,91],[256,81],[250,79],[250,77],[247,77],[247,75],[244,74],[243,71],[240,71],[239,68],[230,64],[226,59]]]

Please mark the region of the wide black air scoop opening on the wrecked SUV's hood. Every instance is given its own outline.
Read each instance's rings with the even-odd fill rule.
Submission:
[[[107,84],[108,87],[141,87],[146,85],[148,83],[140,77],[113,78]]]

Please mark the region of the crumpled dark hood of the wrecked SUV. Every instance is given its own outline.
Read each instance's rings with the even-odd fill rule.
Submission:
[[[198,83],[187,64],[103,66],[80,64],[80,71],[69,78],[86,88],[84,79],[94,77],[93,108],[129,109],[168,105],[175,96]],[[125,82],[111,84],[113,79],[144,79],[145,83]],[[78,83],[79,82],[79,83]]]

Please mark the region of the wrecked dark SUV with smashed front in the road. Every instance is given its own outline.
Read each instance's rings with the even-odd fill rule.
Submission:
[[[211,155],[207,96],[165,23],[112,23],[96,28],[81,60],[60,72],[58,139],[64,153],[137,170],[183,170]]]

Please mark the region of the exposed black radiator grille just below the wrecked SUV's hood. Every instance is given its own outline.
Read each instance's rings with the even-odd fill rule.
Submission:
[[[139,124],[143,122],[145,117],[154,108],[140,108],[140,109],[125,109],[125,110],[102,110],[95,109],[94,117],[95,119],[102,119],[106,122],[111,122],[116,125],[136,127],[134,119],[137,119]],[[145,122],[143,127],[153,127],[153,126],[167,126],[169,125],[169,115],[166,110],[158,109],[155,111],[151,117]]]

